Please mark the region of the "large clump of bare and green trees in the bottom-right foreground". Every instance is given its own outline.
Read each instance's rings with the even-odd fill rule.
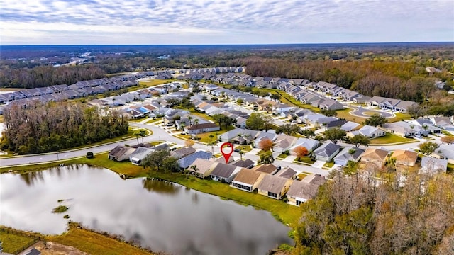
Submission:
[[[337,173],[302,205],[294,254],[453,254],[454,178]]]

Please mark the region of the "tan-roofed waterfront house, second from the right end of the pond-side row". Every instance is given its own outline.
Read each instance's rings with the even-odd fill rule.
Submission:
[[[270,198],[281,199],[289,190],[291,183],[292,180],[267,174],[258,185],[258,193]]]

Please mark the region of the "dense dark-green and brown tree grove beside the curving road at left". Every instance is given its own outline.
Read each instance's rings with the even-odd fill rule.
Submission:
[[[14,104],[4,110],[4,124],[1,149],[20,154],[89,145],[128,132],[128,120],[118,111],[67,102]]]

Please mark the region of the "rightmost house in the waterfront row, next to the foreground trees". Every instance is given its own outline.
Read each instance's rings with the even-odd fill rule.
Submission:
[[[301,205],[316,196],[319,187],[326,182],[325,176],[311,174],[302,181],[294,181],[287,192],[287,199],[291,205]]]

